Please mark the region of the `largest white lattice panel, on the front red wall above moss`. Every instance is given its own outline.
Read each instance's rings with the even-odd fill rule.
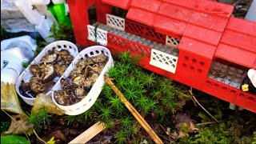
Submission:
[[[178,57],[163,53],[159,50],[151,50],[150,65],[175,74]]]

